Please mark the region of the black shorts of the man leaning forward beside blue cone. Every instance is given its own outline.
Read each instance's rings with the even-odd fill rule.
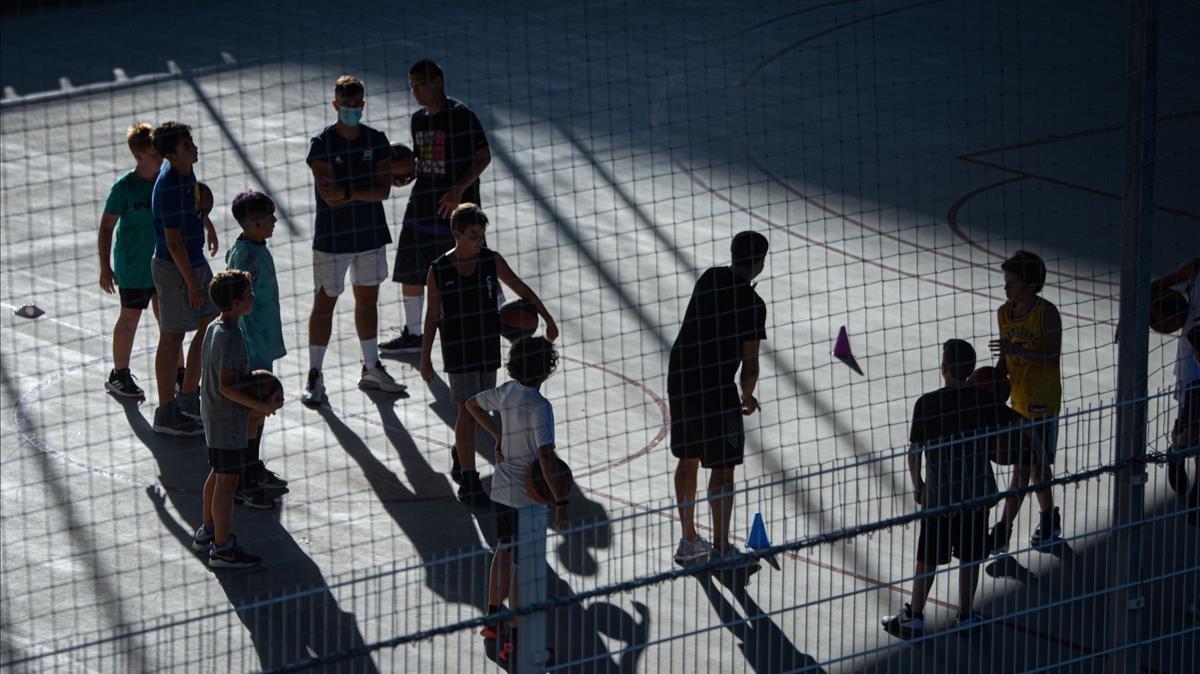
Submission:
[[[671,453],[700,459],[704,468],[742,465],[745,432],[742,408],[721,396],[677,395],[671,402]]]

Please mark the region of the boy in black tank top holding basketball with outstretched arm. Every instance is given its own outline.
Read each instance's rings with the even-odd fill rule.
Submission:
[[[425,282],[428,307],[420,366],[421,378],[432,380],[433,336],[440,330],[442,360],[458,414],[454,427],[462,469],[458,499],[474,507],[486,506],[488,499],[475,470],[478,423],[466,405],[475,393],[496,387],[496,371],[500,367],[500,321],[496,311],[500,282],[533,303],[546,323],[547,339],[558,338],[558,325],[538,295],[499,253],[485,246],[486,229],[487,216],[475,204],[462,204],[450,216],[455,247],[433,260]]]

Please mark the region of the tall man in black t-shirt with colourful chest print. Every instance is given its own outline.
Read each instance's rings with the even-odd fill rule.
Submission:
[[[401,283],[404,329],[379,345],[385,354],[421,350],[421,305],[430,264],[454,248],[450,213],[481,205],[479,176],[492,161],[484,127],[467,106],[445,95],[442,67],[422,59],[408,71],[421,109],[413,113],[416,183],[408,194],[391,279]]]

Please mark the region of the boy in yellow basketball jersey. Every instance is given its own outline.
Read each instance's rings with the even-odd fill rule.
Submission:
[[[1004,295],[1001,305],[1000,339],[989,345],[997,355],[996,368],[1013,385],[1012,405],[1033,423],[1042,438],[1042,452],[1025,452],[1013,467],[1010,489],[1025,488],[1030,480],[1045,482],[1054,479],[1054,457],[1058,443],[1058,415],[1062,403],[1062,375],[1058,360],[1062,355],[1062,318],[1058,309],[1038,295],[1046,278],[1046,266],[1037,254],[1018,251],[1000,266],[1004,272]],[[1054,505],[1050,487],[1034,492],[1042,517],[1030,536],[1030,544],[1042,547],[1062,536],[1062,517]],[[1004,513],[991,530],[992,549],[1008,549],[1013,520],[1021,508],[1024,494],[1004,499]]]

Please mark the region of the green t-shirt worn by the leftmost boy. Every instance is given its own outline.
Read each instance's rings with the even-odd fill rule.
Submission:
[[[121,288],[154,288],[150,276],[150,259],[154,258],[152,189],[152,180],[142,180],[130,171],[113,185],[104,201],[104,212],[118,217],[113,275]]]

